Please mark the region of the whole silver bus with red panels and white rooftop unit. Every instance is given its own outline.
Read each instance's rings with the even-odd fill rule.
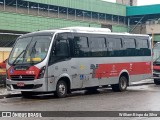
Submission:
[[[125,91],[131,82],[151,77],[151,66],[148,35],[87,27],[38,31],[17,39],[7,62],[7,89],[57,97],[106,85]]]

